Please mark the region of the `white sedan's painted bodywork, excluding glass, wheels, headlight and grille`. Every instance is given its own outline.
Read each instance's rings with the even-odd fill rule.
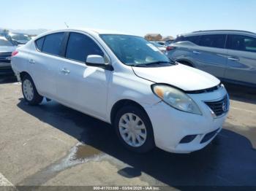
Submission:
[[[165,104],[151,90],[154,83],[165,83],[184,91],[202,90],[219,85],[219,79],[206,72],[178,64],[168,67],[131,67],[124,65],[100,38],[99,31],[65,29],[91,36],[107,55],[113,71],[86,66],[37,51],[34,41],[47,32],[18,47],[12,57],[12,69],[20,80],[20,73],[31,75],[40,95],[65,106],[111,123],[111,110],[121,100],[135,101],[145,109],[154,130],[157,147],[168,152],[192,152],[205,147],[211,140],[200,144],[200,139],[212,130],[222,128],[227,113],[214,118],[204,101],[214,101],[227,95],[225,87],[209,93],[189,94],[202,115],[181,112]],[[55,31],[60,32],[60,31]],[[102,34],[108,34],[104,31]],[[109,34],[113,34],[110,32]],[[115,33],[116,34],[116,33]],[[63,69],[68,74],[61,72]],[[200,134],[192,143],[178,144],[182,137]],[[97,139],[97,138],[95,138]]]

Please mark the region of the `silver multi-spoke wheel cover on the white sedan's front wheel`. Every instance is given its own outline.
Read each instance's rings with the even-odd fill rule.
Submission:
[[[121,138],[129,146],[140,147],[146,142],[146,126],[136,114],[123,114],[119,120],[118,129]]]

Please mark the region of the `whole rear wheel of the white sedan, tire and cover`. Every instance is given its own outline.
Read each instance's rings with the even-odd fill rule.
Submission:
[[[29,105],[35,106],[42,102],[43,97],[37,92],[37,88],[28,74],[22,79],[21,89],[23,97],[25,98],[26,102],[29,103]]]

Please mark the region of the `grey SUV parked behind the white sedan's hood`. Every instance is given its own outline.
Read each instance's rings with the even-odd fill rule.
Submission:
[[[197,31],[178,36],[169,58],[219,77],[256,87],[256,34],[248,31]]]

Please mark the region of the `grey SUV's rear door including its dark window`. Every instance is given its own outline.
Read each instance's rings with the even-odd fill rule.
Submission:
[[[191,47],[192,58],[198,69],[213,74],[215,77],[224,77],[227,64],[226,37],[225,34],[200,36],[199,46]]]

